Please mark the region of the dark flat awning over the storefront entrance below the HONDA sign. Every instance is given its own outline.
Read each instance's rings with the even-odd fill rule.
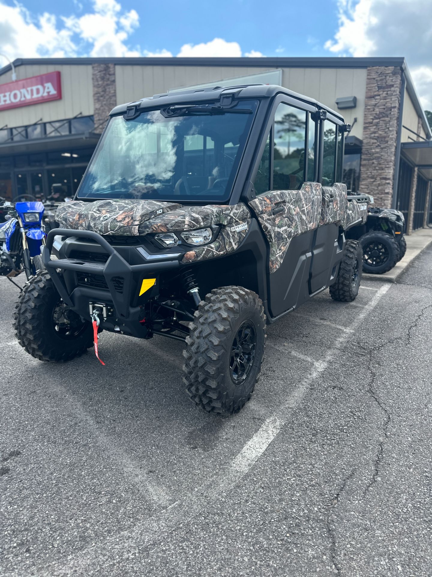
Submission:
[[[9,141],[0,144],[0,156],[24,154],[31,152],[56,151],[60,148],[95,147],[100,134],[86,132],[81,134],[62,134],[62,136],[45,136],[26,140]]]

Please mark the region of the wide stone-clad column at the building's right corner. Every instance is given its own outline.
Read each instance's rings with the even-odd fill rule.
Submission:
[[[367,69],[359,192],[384,208],[392,205],[401,74],[393,66]]]

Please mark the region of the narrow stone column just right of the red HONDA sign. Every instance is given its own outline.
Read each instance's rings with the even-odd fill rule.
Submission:
[[[116,106],[115,68],[113,64],[92,64],[94,132],[100,134],[109,113]]]

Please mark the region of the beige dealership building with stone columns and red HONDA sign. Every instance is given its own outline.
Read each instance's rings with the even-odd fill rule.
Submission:
[[[351,124],[343,179],[432,222],[432,134],[404,58],[30,58],[0,69],[0,196],[76,192],[116,104],[186,87],[279,84]]]

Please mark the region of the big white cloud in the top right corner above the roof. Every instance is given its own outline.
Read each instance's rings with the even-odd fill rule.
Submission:
[[[339,54],[404,56],[423,106],[432,110],[430,0],[338,0],[339,29],[324,47]]]

